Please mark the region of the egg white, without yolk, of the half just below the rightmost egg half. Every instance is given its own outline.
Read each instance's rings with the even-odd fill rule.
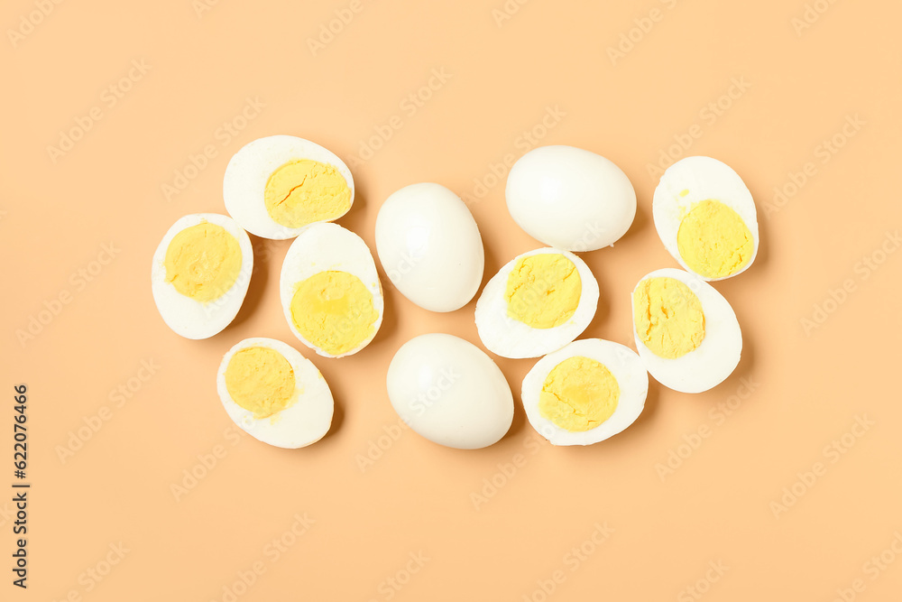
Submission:
[[[636,348],[649,373],[658,383],[682,393],[702,393],[723,383],[739,365],[742,355],[742,331],[730,302],[699,276],[676,268],[647,273],[636,284],[633,292],[642,281],[649,278],[675,278],[683,282],[695,292],[704,313],[704,339],[701,345],[676,359],[658,357],[646,347],[636,332],[635,316],[633,317],[632,330]],[[632,299],[630,295],[630,308],[633,307]]]

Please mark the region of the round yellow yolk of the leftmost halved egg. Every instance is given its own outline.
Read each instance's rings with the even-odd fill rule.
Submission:
[[[223,296],[241,272],[241,246],[222,226],[202,222],[186,227],[166,249],[166,282],[195,301]]]

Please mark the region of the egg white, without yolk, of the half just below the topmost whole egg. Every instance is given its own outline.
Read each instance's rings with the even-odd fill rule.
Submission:
[[[564,255],[576,266],[582,282],[582,294],[573,316],[564,324],[550,329],[535,329],[507,314],[508,304],[504,299],[508,276],[522,257],[540,254]],[[573,342],[583,331],[598,309],[598,281],[592,270],[576,255],[552,248],[536,249],[518,255],[504,265],[492,280],[485,284],[483,294],[476,301],[476,329],[483,345],[501,357],[540,357],[557,351]]]

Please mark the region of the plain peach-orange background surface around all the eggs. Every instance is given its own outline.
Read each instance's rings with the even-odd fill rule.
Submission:
[[[237,574],[259,562],[262,575],[246,591],[239,586],[237,599],[666,600],[704,591],[705,599],[733,602],[831,600],[855,579],[864,586],[856,599],[896,599],[902,556],[885,554],[895,563],[876,575],[866,563],[902,532],[902,253],[879,253],[893,247],[887,233],[902,221],[902,48],[889,42],[898,39],[902,7],[810,4],[813,23],[797,32],[803,0],[534,0],[500,24],[502,0],[363,0],[349,23],[333,23],[340,32],[314,55],[308,40],[336,10],[347,19],[349,1],[223,0],[198,14],[190,0],[85,0],[32,17],[32,0],[5,2],[0,487],[14,480],[12,387],[26,383],[32,489],[27,592],[10,585],[11,494],[0,495],[3,598],[57,600],[74,590],[92,601],[223,600]],[[23,18],[40,23],[29,29]],[[10,30],[28,32],[11,40]],[[631,49],[623,42],[630,37]],[[618,44],[628,51],[612,60]],[[133,60],[150,69],[120,87]],[[421,107],[405,103],[433,69],[448,79],[432,80],[437,89],[423,92],[431,97]],[[731,79],[750,87],[722,97]],[[114,105],[110,85],[131,89]],[[226,136],[219,128],[241,115],[248,97],[265,107]],[[718,101],[714,113],[708,106]],[[48,146],[77,119],[87,123],[92,107],[101,118],[54,162]],[[566,115],[543,132],[549,107]],[[855,116],[860,124],[842,134]],[[390,123],[391,139],[354,162]],[[153,305],[150,263],[161,236],[184,214],[225,212],[229,157],[270,134],[306,137],[351,165],[356,202],[339,223],[371,248],[376,212],[393,190],[437,181],[464,195],[483,233],[487,279],[538,246],[516,227],[503,196],[505,157],[529,147],[522,133],[533,128],[537,144],[607,156],[636,187],[630,232],[614,248],[584,254],[602,289],[586,336],[630,346],[632,286],[676,266],[650,219],[657,177],[649,163],[680,140],[686,145],[691,131],[689,148],[674,147],[674,156],[711,155],[741,174],[758,202],[761,252],[749,272],[715,284],[745,336],[741,364],[725,383],[687,395],[652,382],[628,431],[558,449],[535,442],[519,406],[533,362],[499,358],[518,404],[504,440],[461,451],[404,431],[389,443],[380,437],[397,423],[384,386],[392,354],[429,331],[478,343],[474,303],[447,315],[420,310],[382,272],[386,316],[373,344],[354,357],[316,357],[281,314],[278,271],[290,241],[254,239],[259,267],[221,334],[179,338]],[[842,148],[825,151],[834,135]],[[215,156],[167,199],[163,186],[206,145]],[[766,211],[775,187],[793,192],[790,174],[808,162],[807,181],[778,211]],[[476,181],[492,183],[493,169],[499,183],[479,189]],[[112,261],[101,255],[109,243],[119,249]],[[862,259],[875,252],[874,261],[884,261],[865,269]],[[844,281],[851,292],[843,296]],[[842,302],[832,302],[831,291]],[[53,302],[66,292],[69,302]],[[59,315],[41,314],[48,307]],[[823,323],[805,332],[801,320],[815,314]],[[20,340],[32,318],[49,323],[32,324],[38,334]],[[216,367],[247,337],[299,347],[326,376],[336,421],[325,440],[288,451],[235,435],[216,395]],[[148,376],[142,360],[159,366],[146,382],[137,379]],[[739,400],[742,379],[755,390]],[[135,391],[111,399],[120,385]],[[716,408],[733,395],[738,407],[722,421]],[[60,459],[98,412],[108,420]],[[855,429],[860,437],[848,434],[856,416],[873,422]],[[700,428],[704,439],[693,437]],[[843,434],[842,454],[827,449]],[[360,458],[380,445],[382,457],[363,470]],[[659,465],[671,452],[685,458],[662,478]],[[198,456],[211,463],[213,454],[216,466],[177,500],[171,486],[183,471],[203,474]],[[511,471],[515,458],[520,467]],[[824,469],[814,482],[796,483],[798,473],[811,483],[804,473],[815,462]],[[492,492],[484,479],[500,486]],[[775,510],[771,503],[794,485],[802,495]],[[474,492],[491,495],[478,510]],[[297,537],[285,534],[295,514],[315,521]],[[596,523],[613,529],[597,544]],[[283,536],[293,545],[274,560],[266,546]],[[120,542],[128,551],[106,572],[110,545]],[[902,551],[902,540],[896,545]],[[429,559],[421,569],[409,565],[419,552]],[[709,571],[718,562],[729,569]],[[97,582],[88,570],[106,576]]]

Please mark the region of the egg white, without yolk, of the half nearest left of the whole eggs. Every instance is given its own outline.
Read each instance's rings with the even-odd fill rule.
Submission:
[[[314,274],[333,270],[350,273],[359,278],[366,290],[373,295],[373,309],[378,314],[370,336],[359,346],[337,356],[329,354],[304,338],[291,319],[291,299],[294,297],[296,285]],[[357,353],[370,344],[382,325],[385,303],[373,255],[370,254],[370,249],[363,238],[337,224],[327,222],[311,224],[291,243],[282,264],[279,292],[282,310],[291,332],[300,342],[323,357],[345,357]]]

